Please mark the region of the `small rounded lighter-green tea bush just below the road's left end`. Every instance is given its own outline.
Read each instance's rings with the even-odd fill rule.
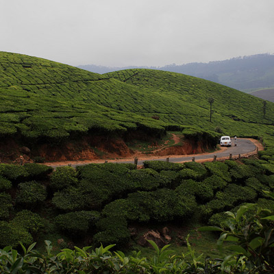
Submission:
[[[71,166],[60,166],[51,174],[51,188],[62,190],[69,186],[77,185],[77,172]]]

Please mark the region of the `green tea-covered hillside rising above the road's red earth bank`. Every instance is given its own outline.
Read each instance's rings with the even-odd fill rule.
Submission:
[[[99,75],[1,52],[0,97],[1,138],[23,145],[58,144],[98,132],[123,137],[185,127],[214,132],[217,126],[228,135],[264,136],[268,145],[273,140],[273,103],[264,118],[262,99],[179,73],[129,69]]]

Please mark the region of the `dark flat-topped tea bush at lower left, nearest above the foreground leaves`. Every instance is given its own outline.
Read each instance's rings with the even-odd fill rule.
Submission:
[[[95,225],[99,219],[97,211],[78,211],[60,214],[55,218],[55,223],[64,232],[81,236],[86,234],[88,229]]]

